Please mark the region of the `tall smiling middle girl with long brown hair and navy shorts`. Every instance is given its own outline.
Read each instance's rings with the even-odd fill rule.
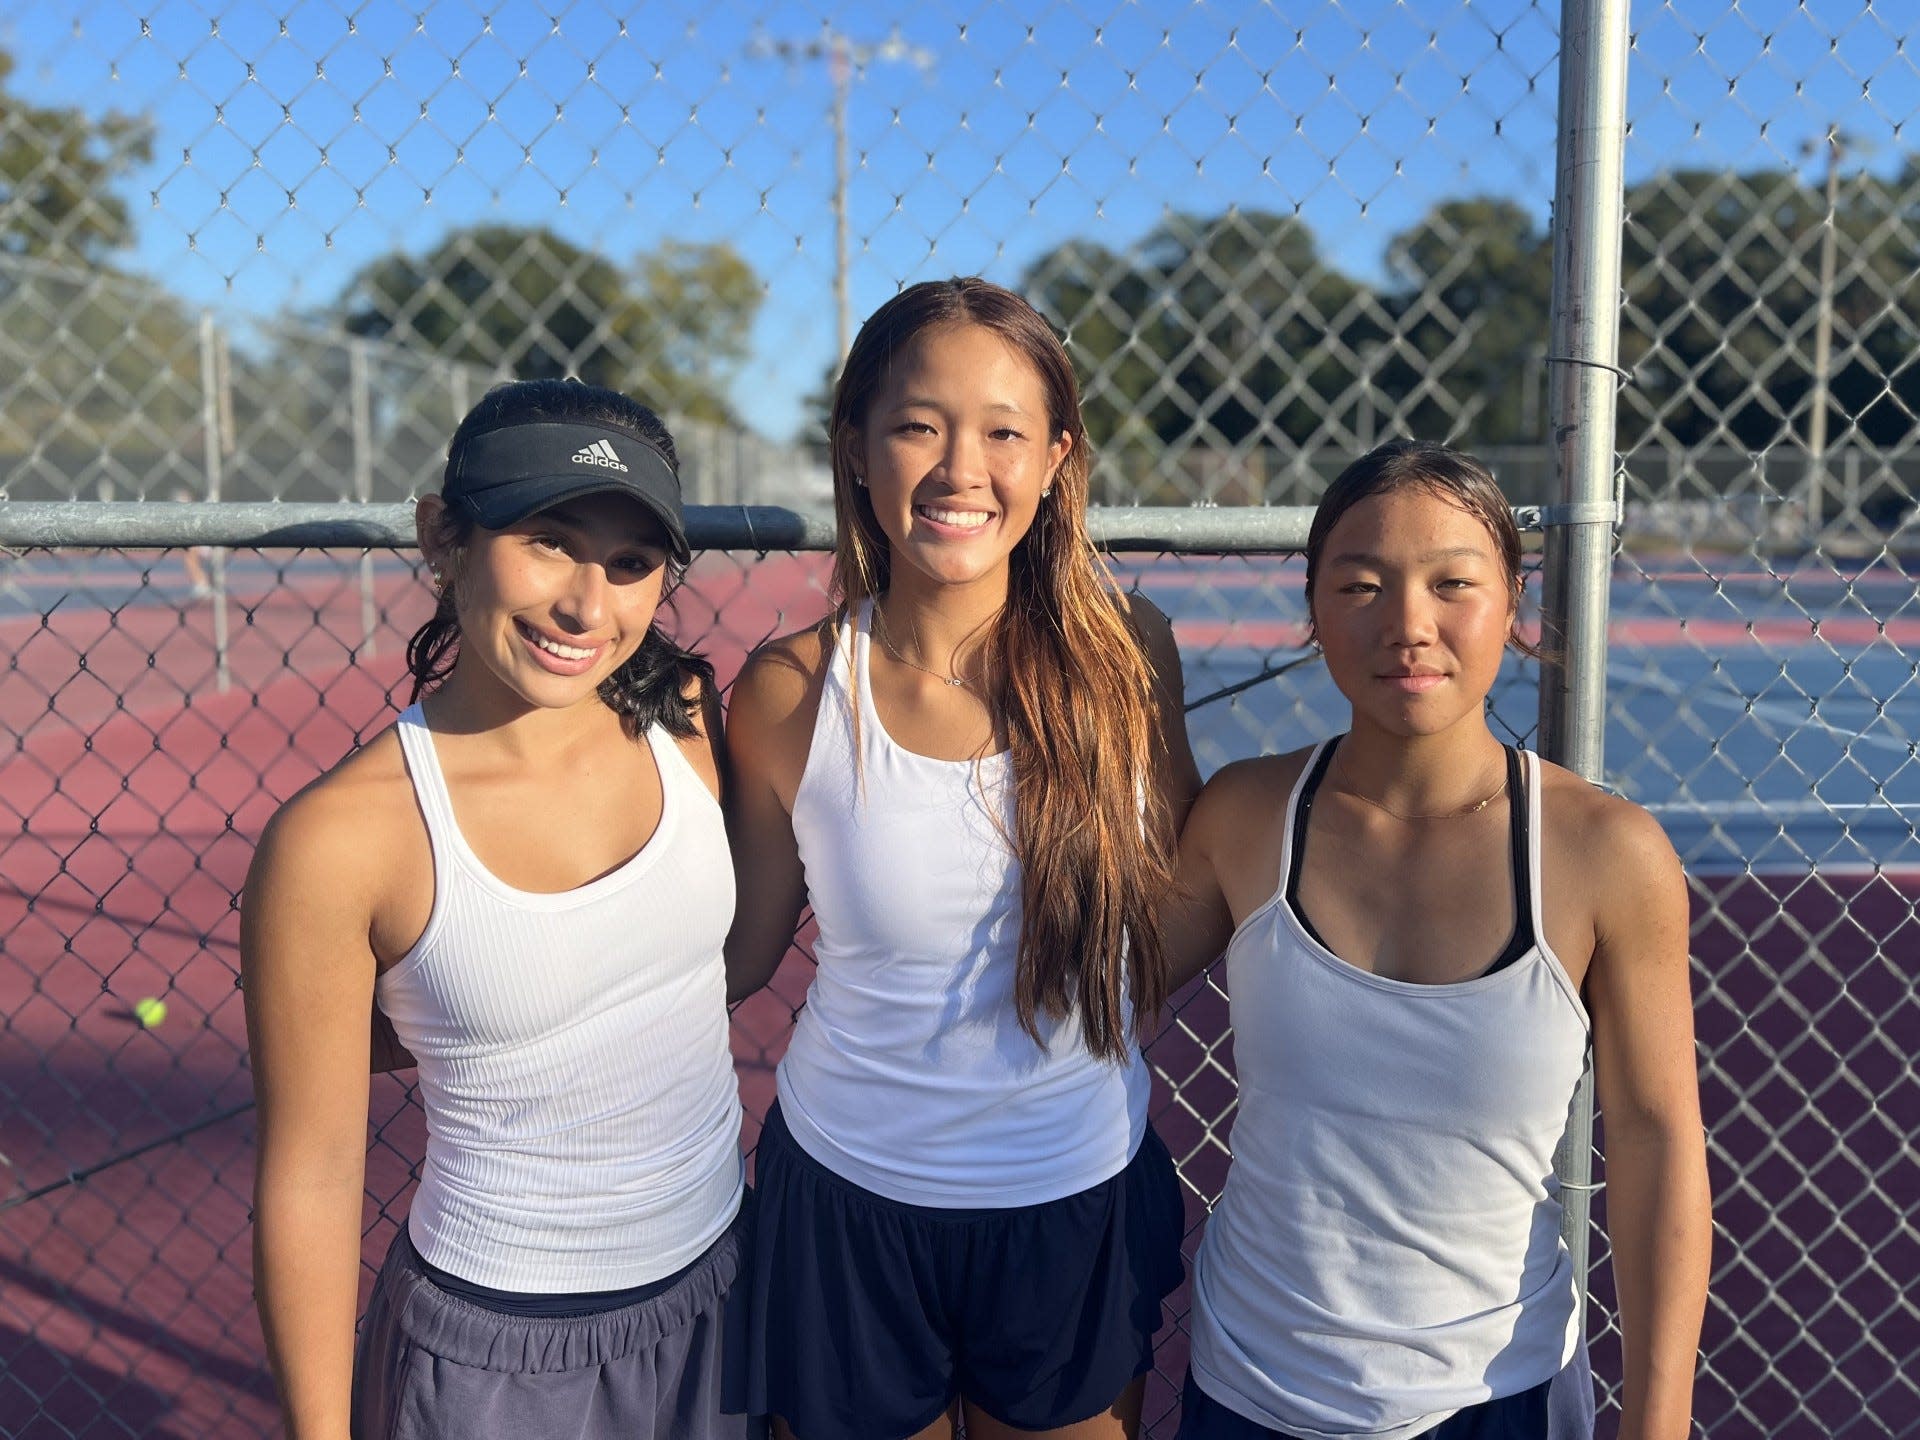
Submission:
[[[1073,369],[916,284],[833,396],[831,616],[730,703],[730,991],[818,970],[760,1137],[751,1400],[799,1440],[1133,1436],[1183,1212],[1139,1027],[1198,776],[1087,538]]]

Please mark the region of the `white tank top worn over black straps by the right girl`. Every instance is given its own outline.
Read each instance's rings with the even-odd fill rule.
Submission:
[[[1588,1018],[1546,945],[1538,758],[1513,803],[1515,945],[1475,979],[1415,985],[1334,956],[1292,902],[1302,793],[1329,756],[1288,801],[1281,887],[1227,947],[1240,1102],[1194,1260],[1192,1367],[1261,1425],[1404,1440],[1574,1356],[1553,1148]]]

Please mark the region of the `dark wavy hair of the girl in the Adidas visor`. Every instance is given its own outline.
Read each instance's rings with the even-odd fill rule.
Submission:
[[[509,380],[488,390],[453,432],[453,440],[447,442],[447,468],[442,476],[442,488],[445,488],[445,476],[453,474],[455,459],[474,438],[538,420],[572,420],[630,434],[660,451],[676,470],[680,468],[674,436],[660,417],[618,390],[603,390],[576,380]],[[442,524],[447,545],[459,555],[472,540],[474,522],[449,505]],[[684,572],[685,568],[678,561],[668,561],[660,609],[672,607],[672,593]],[[445,680],[459,659],[461,622],[453,589],[449,576],[440,591],[434,616],[407,641],[407,672],[413,676],[409,703]],[[693,695],[687,693],[689,682],[699,682]],[[668,733],[689,739],[697,733],[695,720],[701,707],[714,693],[712,660],[676,643],[660,628],[659,614],[647,628],[639,649],[599,687],[607,708],[620,716],[626,733],[636,739],[651,726],[664,726]]]

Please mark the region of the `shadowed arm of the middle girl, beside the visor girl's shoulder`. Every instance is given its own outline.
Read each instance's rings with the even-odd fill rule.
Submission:
[[[774,977],[806,904],[793,799],[833,653],[829,636],[822,622],[768,641],[747,657],[728,697],[726,816],[737,895],[726,939],[728,1000]]]

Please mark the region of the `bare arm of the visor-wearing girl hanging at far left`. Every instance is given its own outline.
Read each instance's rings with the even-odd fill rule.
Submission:
[[[380,749],[382,741],[374,747]],[[384,741],[397,768],[397,741]],[[367,1160],[380,755],[288,801],[253,852],[240,970],[257,1102],[253,1275],[292,1436],[348,1434]],[[405,783],[403,780],[399,781]],[[378,820],[374,820],[378,828]]]

